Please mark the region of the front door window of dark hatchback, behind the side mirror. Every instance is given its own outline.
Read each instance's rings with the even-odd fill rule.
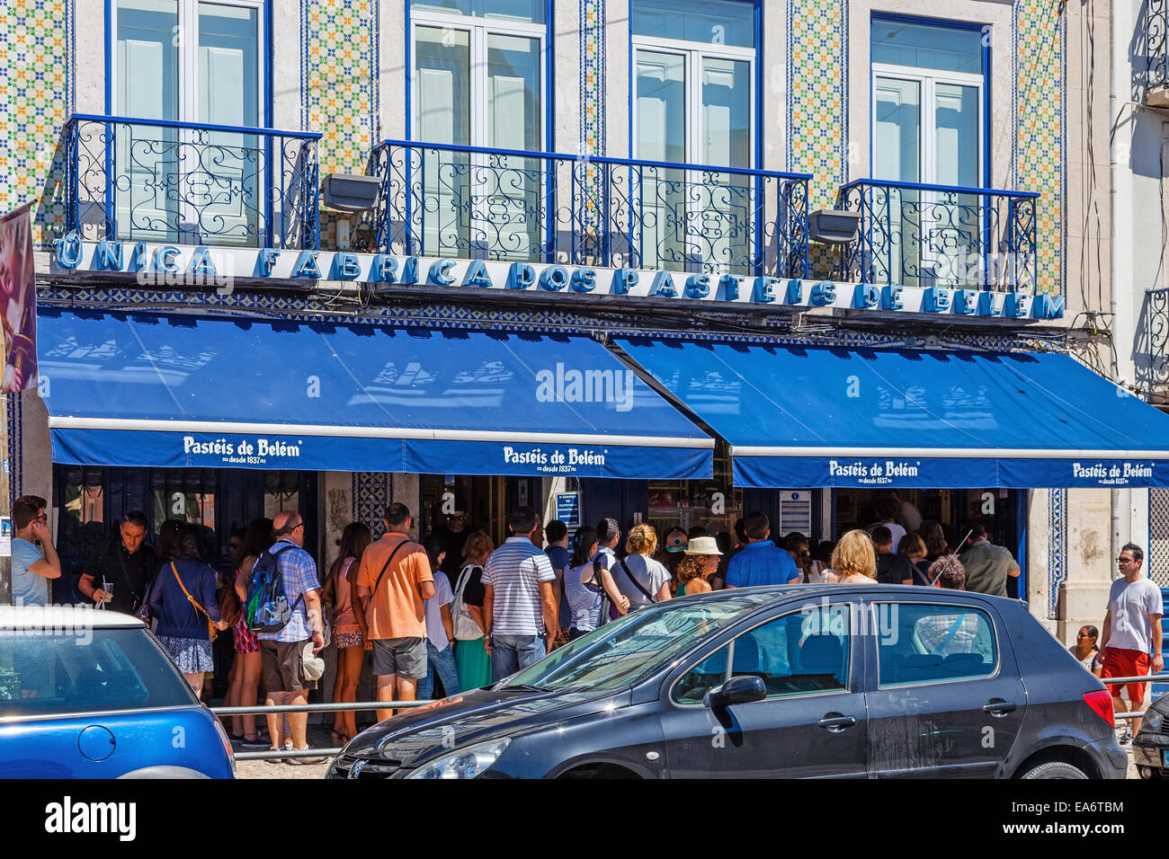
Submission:
[[[846,688],[850,614],[848,603],[815,605],[745,632],[731,676],[763,678],[768,698]]]

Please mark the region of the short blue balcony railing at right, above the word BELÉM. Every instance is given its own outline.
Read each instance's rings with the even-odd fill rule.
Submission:
[[[838,209],[860,213],[841,279],[1033,292],[1038,194],[863,179]]]

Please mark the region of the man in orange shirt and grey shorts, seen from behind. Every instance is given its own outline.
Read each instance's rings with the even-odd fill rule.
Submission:
[[[410,511],[386,507],[386,533],[361,555],[358,600],[373,642],[379,701],[413,701],[427,676],[427,622],[423,600],[435,595],[426,550],[409,538]],[[396,698],[394,693],[397,693]],[[394,715],[379,709],[378,721]]]

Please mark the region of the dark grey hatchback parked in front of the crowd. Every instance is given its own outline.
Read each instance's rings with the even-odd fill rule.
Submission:
[[[1016,601],[900,586],[653,605],[354,737],[333,778],[1123,778],[1112,699]]]

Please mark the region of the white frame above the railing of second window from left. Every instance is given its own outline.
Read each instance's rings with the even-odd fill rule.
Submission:
[[[548,125],[548,27],[546,23],[530,23],[527,21],[511,21],[502,18],[477,18],[475,15],[454,15],[431,9],[410,8],[410,127],[416,129],[419,116],[416,111],[419,95],[419,51],[417,28],[431,27],[438,29],[457,29],[468,33],[470,63],[470,88],[471,99],[468,113],[470,141],[468,146],[490,148],[487,143],[487,36],[524,36],[538,39],[540,44],[540,119],[539,136],[540,145],[537,152],[547,148],[547,125]],[[413,137],[411,132],[411,137]],[[416,138],[415,138],[416,139]],[[417,143],[434,143],[433,140],[417,140]],[[442,145],[442,144],[438,144]]]

